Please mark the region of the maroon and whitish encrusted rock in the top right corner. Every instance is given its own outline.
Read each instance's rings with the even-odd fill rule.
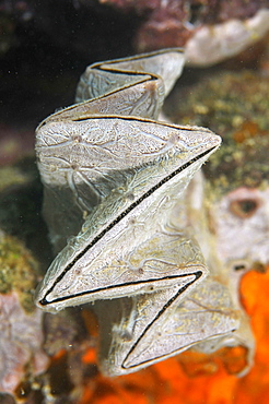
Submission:
[[[182,46],[186,60],[209,66],[239,54],[269,31],[266,1],[101,0],[141,16],[139,51]]]

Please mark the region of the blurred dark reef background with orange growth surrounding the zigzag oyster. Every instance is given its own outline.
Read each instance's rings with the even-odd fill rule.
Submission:
[[[268,3],[257,0],[0,2],[1,404],[268,403]],[[202,168],[203,219],[245,334],[234,347],[106,378],[89,307],[54,316],[34,305],[54,258],[35,128],[73,104],[86,66],[178,46],[186,64],[163,111],[223,139]]]

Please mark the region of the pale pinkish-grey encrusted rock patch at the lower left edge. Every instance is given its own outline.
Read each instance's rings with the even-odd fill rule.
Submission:
[[[15,293],[0,295],[0,391],[13,393],[27,366],[33,375],[47,368],[42,313],[26,314]]]

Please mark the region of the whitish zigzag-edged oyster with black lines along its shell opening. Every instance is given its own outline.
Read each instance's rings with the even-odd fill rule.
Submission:
[[[77,104],[36,130],[44,215],[56,252],[67,243],[36,304],[55,312],[94,301],[110,376],[239,324],[191,231],[173,224],[175,204],[221,142],[208,129],[156,120],[183,64],[180,49],[95,63]]]

